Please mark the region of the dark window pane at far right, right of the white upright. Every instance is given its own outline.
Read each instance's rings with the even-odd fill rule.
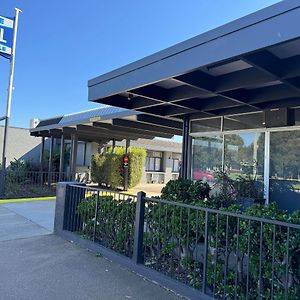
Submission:
[[[270,201],[300,209],[300,131],[270,133]]]

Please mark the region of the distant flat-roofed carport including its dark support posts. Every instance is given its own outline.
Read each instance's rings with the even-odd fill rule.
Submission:
[[[72,180],[76,173],[76,157],[78,141],[97,142],[105,145],[112,141],[113,148],[116,141],[126,140],[126,152],[130,140],[139,138],[153,139],[155,137],[172,138],[181,135],[181,123],[166,121],[163,125],[152,126],[140,122],[143,114],[117,107],[101,107],[79,113],[73,113],[40,120],[35,128],[30,129],[32,136],[42,138],[40,167],[43,170],[43,156],[45,139],[50,138],[50,153],[48,172],[52,172],[54,139],[60,140],[59,180],[63,178],[65,142],[71,141],[70,175]],[[49,176],[50,178],[50,176]]]

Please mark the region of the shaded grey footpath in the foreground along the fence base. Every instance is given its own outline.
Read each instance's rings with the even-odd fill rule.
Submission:
[[[55,235],[0,243],[6,300],[182,299]]]

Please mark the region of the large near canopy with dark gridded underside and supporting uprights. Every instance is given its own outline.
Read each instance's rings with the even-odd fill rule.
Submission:
[[[268,201],[270,132],[299,129],[299,19],[299,1],[280,2],[89,80],[89,100],[143,113],[155,126],[182,122],[183,177],[192,137],[263,133]]]

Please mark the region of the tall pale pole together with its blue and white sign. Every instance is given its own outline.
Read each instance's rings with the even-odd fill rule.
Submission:
[[[14,20],[0,16],[0,55],[10,59],[6,115],[4,117],[5,127],[4,127],[3,150],[2,150],[2,172],[1,172],[1,186],[0,186],[1,194],[4,193],[4,186],[5,186],[7,130],[10,121],[19,14],[20,12],[22,12],[18,8],[15,8],[15,11],[16,11],[16,15]]]

